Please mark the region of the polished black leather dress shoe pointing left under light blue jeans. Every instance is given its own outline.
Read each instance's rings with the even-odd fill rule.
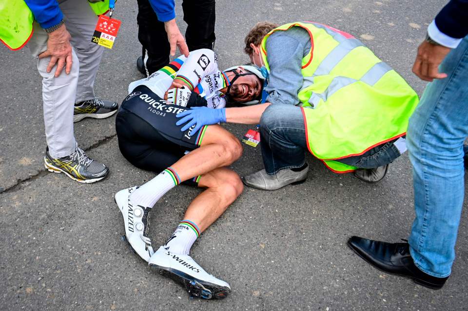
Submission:
[[[414,282],[434,290],[442,288],[448,279],[448,276],[435,277],[419,270],[409,254],[408,243],[387,243],[351,237],[348,246],[377,269],[409,277]]]

